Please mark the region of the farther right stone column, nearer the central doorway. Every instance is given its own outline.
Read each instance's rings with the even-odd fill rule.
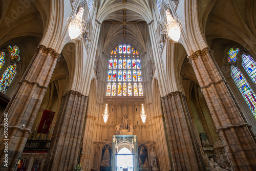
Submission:
[[[173,92],[162,97],[162,104],[174,170],[203,170],[186,97]]]

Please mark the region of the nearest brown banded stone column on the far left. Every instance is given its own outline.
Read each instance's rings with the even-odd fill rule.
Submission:
[[[5,110],[5,113],[8,113],[7,137],[4,136],[4,114],[0,119],[0,170],[13,170],[18,157],[22,154],[59,56],[53,49],[39,45],[22,80],[18,83]],[[3,162],[4,141],[8,141],[8,168]]]

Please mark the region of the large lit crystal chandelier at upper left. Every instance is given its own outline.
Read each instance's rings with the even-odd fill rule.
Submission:
[[[69,22],[69,36],[71,39],[75,39],[83,32],[84,20],[83,17],[84,9],[80,7],[75,17],[69,17],[67,22]],[[70,21],[69,21],[70,20]]]

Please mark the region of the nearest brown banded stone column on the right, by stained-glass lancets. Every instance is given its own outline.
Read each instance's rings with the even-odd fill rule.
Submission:
[[[233,170],[256,170],[255,136],[209,48],[188,56]]]

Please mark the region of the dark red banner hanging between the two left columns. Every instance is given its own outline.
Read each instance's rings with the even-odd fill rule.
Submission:
[[[37,133],[48,134],[55,112],[45,110],[37,129]]]

